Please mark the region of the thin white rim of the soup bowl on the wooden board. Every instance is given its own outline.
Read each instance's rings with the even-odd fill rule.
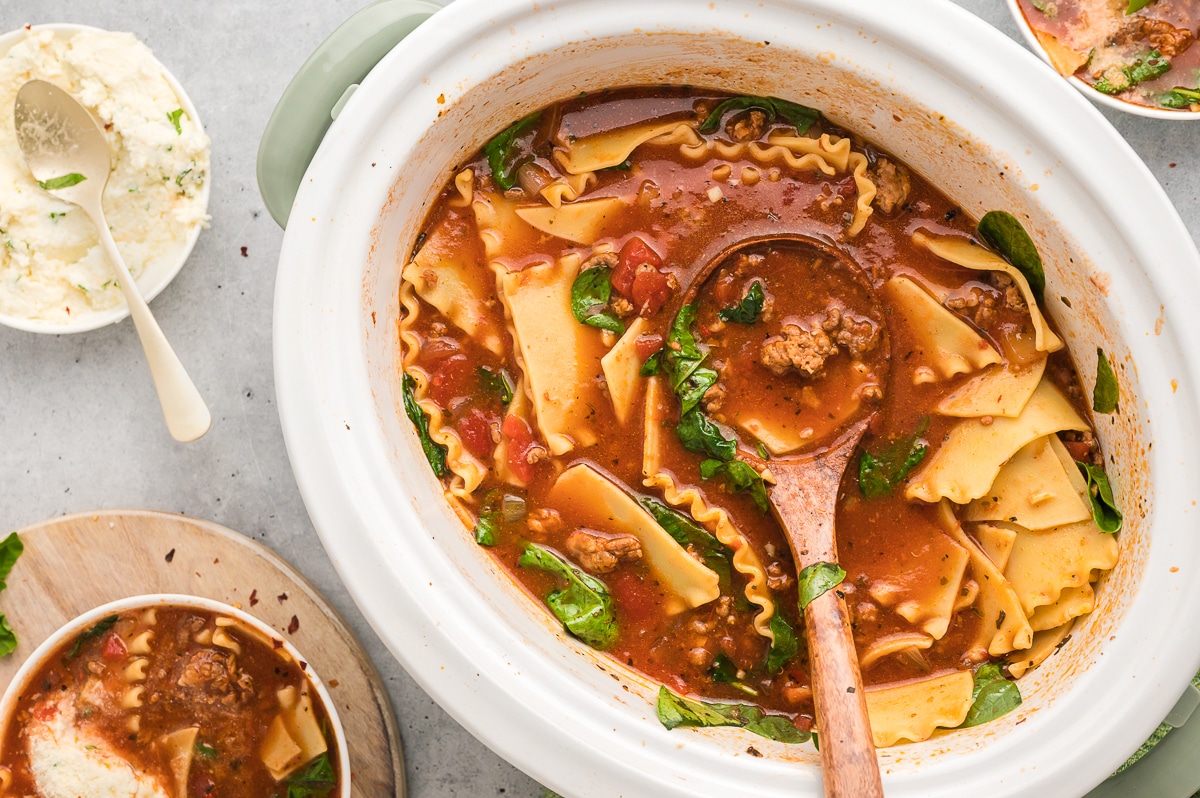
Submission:
[[[280,632],[275,631],[248,612],[224,604],[223,601],[215,601],[214,599],[205,599],[198,595],[184,595],[180,593],[148,593],[145,595],[118,599],[115,601],[103,604],[95,610],[89,610],[82,616],[77,616],[59,626],[53,635],[42,641],[42,643],[34,649],[29,658],[25,659],[20,668],[18,668],[17,674],[12,677],[12,682],[8,683],[8,688],[4,691],[4,697],[0,698],[0,740],[2,740],[4,734],[7,733],[13,704],[24,690],[25,683],[32,673],[37,672],[37,668],[44,664],[46,659],[50,654],[56,652],[68,640],[82,634],[84,630],[98,623],[103,618],[128,612],[131,610],[144,610],[148,607],[162,606],[188,607],[204,612],[233,616],[247,626],[251,626],[265,635],[268,640],[280,641],[283,644],[283,650],[286,650],[293,660],[305,664],[305,667],[302,667],[301,671],[307,677],[308,683],[316,688],[317,695],[320,697],[320,702],[325,707],[329,725],[334,730],[334,739],[337,743],[337,766],[340,768],[338,775],[341,785],[341,788],[338,790],[338,798],[350,798],[352,773],[349,746],[346,744],[346,730],[342,728],[342,721],[337,716],[337,707],[334,704],[332,697],[325,689],[325,683],[322,682],[320,677],[312,670],[307,658],[296,650],[296,647],[293,646],[286,637],[280,635]]]

